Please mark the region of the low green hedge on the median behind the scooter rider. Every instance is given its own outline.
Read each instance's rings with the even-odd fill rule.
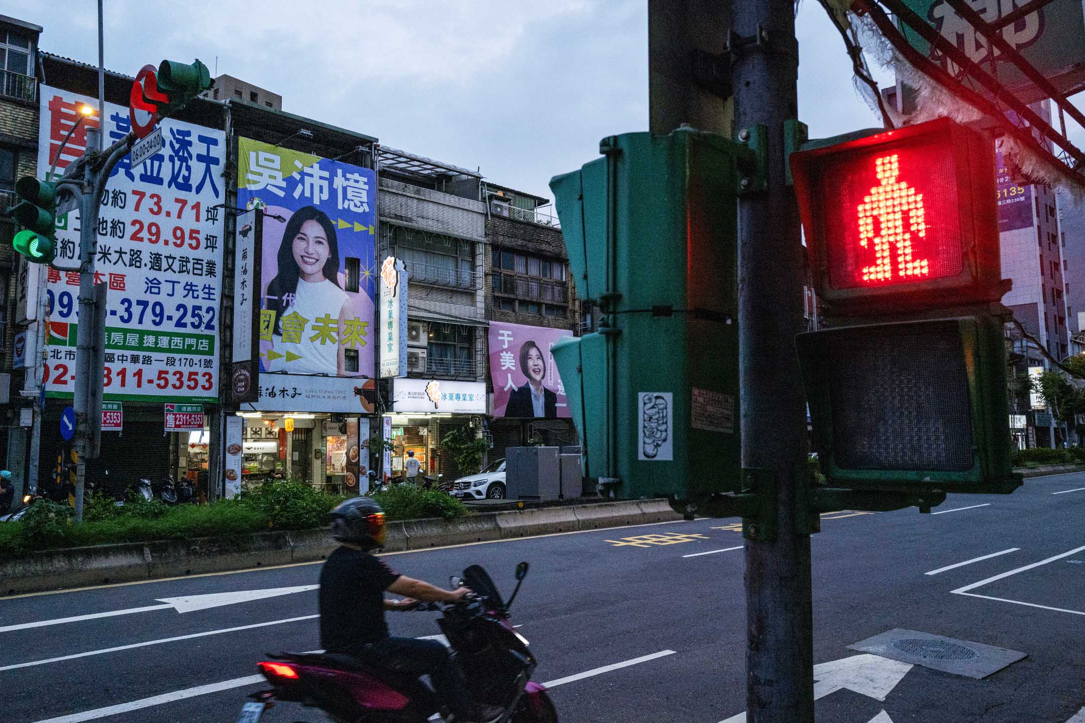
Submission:
[[[84,521],[78,525],[71,506],[41,500],[20,521],[0,522],[0,559],[54,547],[316,529],[328,522],[328,512],[345,499],[297,481],[269,481],[247,488],[235,500],[207,505],[169,506],[137,496],[118,507],[112,498],[99,495],[87,500]],[[462,502],[444,492],[411,485],[380,492],[374,499],[388,519],[451,519],[468,512]]]

